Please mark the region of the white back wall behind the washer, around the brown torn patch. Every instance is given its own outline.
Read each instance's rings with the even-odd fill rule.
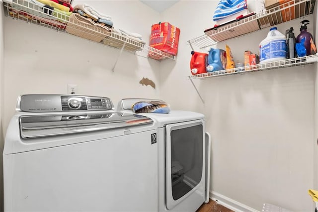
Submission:
[[[80,2],[75,0],[73,5]],[[114,26],[143,35],[149,43],[151,25],[159,13],[140,1],[90,0],[89,5],[112,16]],[[142,12],[141,12],[142,11]],[[159,98],[160,62],[60,33],[4,18],[4,111],[6,129],[20,94],[65,94],[67,84],[77,84],[78,94],[106,96],[117,105],[121,98]],[[156,89],[142,86],[149,78]]]

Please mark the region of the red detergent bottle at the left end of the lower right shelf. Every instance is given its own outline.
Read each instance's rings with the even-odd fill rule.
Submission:
[[[191,74],[196,75],[196,74],[206,73],[208,54],[195,52],[195,51],[191,51],[191,54],[192,54],[191,61],[190,61]]]

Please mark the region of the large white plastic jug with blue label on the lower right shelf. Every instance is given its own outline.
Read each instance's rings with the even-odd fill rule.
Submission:
[[[259,44],[259,63],[286,59],[286,36],[273,27]]]

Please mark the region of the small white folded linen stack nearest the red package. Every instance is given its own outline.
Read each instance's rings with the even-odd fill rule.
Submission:
[[[124,43],[124,49],[131,52],[142,50],[146,44],[140,34],[122,28],[113,28],[112,35],[103,41],[103,44],[116,48],[122,48]]]

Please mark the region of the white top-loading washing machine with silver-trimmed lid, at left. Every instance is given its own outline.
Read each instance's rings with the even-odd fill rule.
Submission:
[[[3,151],[4,211],[158,210],[158,127],[110,99],[23,95]]]

